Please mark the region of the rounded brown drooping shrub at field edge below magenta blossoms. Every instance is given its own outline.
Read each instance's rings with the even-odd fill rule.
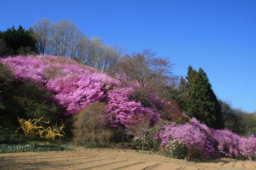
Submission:
[[[83,146],[102,147],[113,136],[112,130],[105,126],[108,114],[106,104],[94,102],[74,116],[74,141]]]

